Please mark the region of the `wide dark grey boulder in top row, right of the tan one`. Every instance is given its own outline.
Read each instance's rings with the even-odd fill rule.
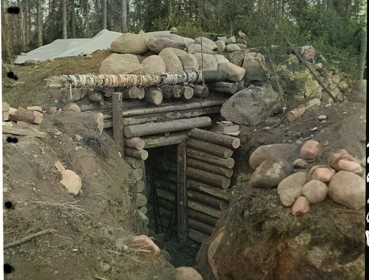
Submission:
[[[153,52],[159,53],[165,48],[184,49],[187,47],[186,41],[176,34],[160,34],[149,38],[149,49]]]

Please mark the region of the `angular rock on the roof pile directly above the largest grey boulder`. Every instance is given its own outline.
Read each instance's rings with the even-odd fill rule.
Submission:
[[[248,81],[266,81],[270,78],[270,75],[266,72],[265,58],[260,53],[245,53],[242,67],[246,69],[245,78]]]

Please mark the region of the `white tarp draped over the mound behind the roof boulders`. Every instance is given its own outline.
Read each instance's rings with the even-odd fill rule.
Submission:
[[[169,34],[171,31],[157,31],[139,34],[146,40],[153,35]],[[84,52],[91,54],[98,49],[110,48],[111,42],[117,39],[122,33],[109,30],[101,30],[93,38],[86,39],[58,39],[51,44],[27,52],[25,55],[18,55],[14,64],[22,64],[26,60],[45,61],[59,57],[74,57]]]

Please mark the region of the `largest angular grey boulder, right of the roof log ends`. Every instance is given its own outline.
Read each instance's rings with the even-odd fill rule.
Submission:
[[[270,85],[263,88],[250,86],[236,92],[220,110],[226,119],[238,124],[254,125],[262,123],[276,111],[280,97]]]

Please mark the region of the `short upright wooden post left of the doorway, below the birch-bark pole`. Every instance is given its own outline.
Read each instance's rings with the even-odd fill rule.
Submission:
[[[113,93],[113,139],[124,158],[122,93]]]

